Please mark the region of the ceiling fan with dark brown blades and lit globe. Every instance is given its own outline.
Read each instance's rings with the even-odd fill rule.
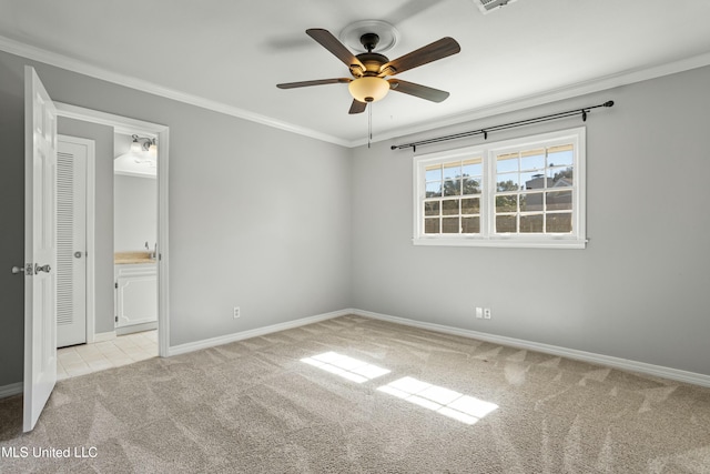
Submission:
[[[343,61],[343,63],[348,67],[353,78],[286,82],[276,84],[276,87],[280,89],[294,89],[336,83],[348,84],[348,90],[353,95],[353,103],[348,113],[364,112],[367,103],[383,99],[389,90],[415,95],[433,102],[446,100],[449,95],[446,91],[403,81],[400,79],[385,78],[456,54],[462,50],[455,39],[446,37],[390,61],[386,56],[373,52],[379,42],[379,37],[376,33],[365,33],[361,37],[359,41],[367,52],[357,56],[353,54],[327,30],[314,28],[306,30],[306,34]]]

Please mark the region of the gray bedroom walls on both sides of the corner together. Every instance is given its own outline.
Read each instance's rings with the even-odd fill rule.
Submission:
[[[26,62],[0,52],[0,386],[22,379]],[[426,134],[617,101],[587,122],[589,245],[564,251],[412,245],[412,152],[389,142],[344,150],[37,69],[55,100],[171,128],[172,345],[359,307],[710,374],[710,68]]]

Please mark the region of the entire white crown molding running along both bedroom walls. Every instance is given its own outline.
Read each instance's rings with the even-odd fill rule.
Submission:
[[[189,94],[174,89],[164,88],[162,85],[136,79],[129,75],[119,74],[106,69],[91,65],[87,62],[75,60],[73,58],[50,52],[41,48],[36,48],[6,37],[0,36],[0,50],[9,52],[11,54],[21,56],[33,61],[43,62],[45,64],[54,65],[57,68],[65,69],[80,74],[89,75],[103,81],[112,82],[114,84],[123,85],[131,89],[136,89],[143,92],[152,93],[154,95],[172,99],[179,102],[187,103],[191,105],[200,107],[203,109],[212,110],[214,112],[223,113],[225,115],[236,117],[240,119],[248,120],[251,122],[261,123],[266,127],[284,130],[287,132],[301,134],[315,140],[337,144],[345,148],[357,148],[367,144],[367,139],[347,140],[338,137],[322,133],[316,130],[300,127],[293,123],[284,122],[273,119],[271,117],[262,115],[248,110],[240,109],[232,105],[226,105],[222,102],[217,102],[211,99],[201,98],[199,95]],[[456,125],[474,120],[484,119],[491,115],[498,115],[508,112],[515,112],[517,110],[527,109],[529,107],[544,105],[546,103],[555,102],[558,100],[571,99],[579,95],[585,95],[594,92],[600,92],[608,89],[613,89],[620,85],[628,85],[635,82],[641,82],[650,79],[660,78],[663,75],[674,74],[678,72],[688,71],[691,69],[702,68],[710,65],[710,52],[698,54],[691,58],[681,59],[678,61],[656,64],[648,68],[637,68],[628,71],[623,71],[617,74],[606,75],[602,78],[578,82],[572,85],[564,88],[552,89],[549,91],[541,91],[536,94],[525,95],[509,101],[497,102],[489,105],[480,107],[464,113],[452,114],[443,117],[436,120],[435,124],[430,122],[399,127],[383,131],[378,133],[378,137],[373,140],[373,143],[383,142],[392,139],[402,139],[403,137],[415,135],[440,129],[444,127]]]

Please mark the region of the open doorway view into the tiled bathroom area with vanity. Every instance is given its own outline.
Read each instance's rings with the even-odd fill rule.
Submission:
[[[58,135],[57,379],[63,380],[140,362],[159,353],[158,148],[156,137],[145,137],[140,139],[145,149],[133,151],[132,141],[144,134],[139,130],[129,135],[114,133],[113,127],[97,129],[78,121],[60,125],[68,133],[91,138]],[[149,143],[154,145],[152,152]],[[112,179],[105,175],[108,172]],[[97,188],[103,196],[95,195]],[[97,200],[104,204],[94,205]],[[111,214],[105,204],[112,208]],[[89,224],[87,221],[95,212],[108,214],[104,224],[113,220],[113,231],[94,232],[94,220]],[[106,252],[112,252],[111,261]],[[109,284],[105,272],[97,279],[94,274],[87,276],[89,270],[93,273],[94,262],[106,266],[106,262],[112,263],[112,312],[108,311],[105,292],[93,292],[95,281],[103,286]],[[94,296],[100,301],[98,307]]]

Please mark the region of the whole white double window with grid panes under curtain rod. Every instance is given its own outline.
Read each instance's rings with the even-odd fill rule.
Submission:
[[[414,164],[415,244],[586,244],[584,128],[416,157]]]

